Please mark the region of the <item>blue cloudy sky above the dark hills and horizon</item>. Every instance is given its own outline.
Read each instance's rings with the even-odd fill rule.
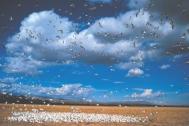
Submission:
[[[189,105],[188,0],[1,0],[0,92]]]

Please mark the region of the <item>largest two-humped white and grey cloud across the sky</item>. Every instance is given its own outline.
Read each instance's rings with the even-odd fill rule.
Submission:
[[[169,22],[161,24],[145,10],[103,17],[82,31],[78,25],[53,11],[30,14],[8,39],[5,70],[35,74],[44,66],[80,61],[116,65],[133,73],[145,58],[159,53],[151,42],[162,44],[173,32]]]

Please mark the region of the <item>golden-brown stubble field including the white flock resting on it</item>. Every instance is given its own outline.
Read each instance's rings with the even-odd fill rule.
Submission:
[[[189,126],[189,108],[0,104],[0,126]]]

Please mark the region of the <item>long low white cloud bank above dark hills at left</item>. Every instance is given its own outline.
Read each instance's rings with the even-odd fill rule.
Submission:
[[[80,83],[64,84],[61,87],[43,87],[40,85],[25,85],[0,82],[0,92],[14,93],[26,96],[45,96],[56,98],[82,98],[90,95],[94,89]]]

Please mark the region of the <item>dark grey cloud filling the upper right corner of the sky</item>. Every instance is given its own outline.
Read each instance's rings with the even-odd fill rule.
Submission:
[[[130,0],[128,6],[131,9],[149,11],[150,15],[161,23],[168,21],[173,32],[162,40],[163,47],[167,48],[165,54],[177,55],[189,52],[188,4],[188,0]],[[174,46],[178,43],[182,45]],[[173,46],[170,47],[170,45]]]

